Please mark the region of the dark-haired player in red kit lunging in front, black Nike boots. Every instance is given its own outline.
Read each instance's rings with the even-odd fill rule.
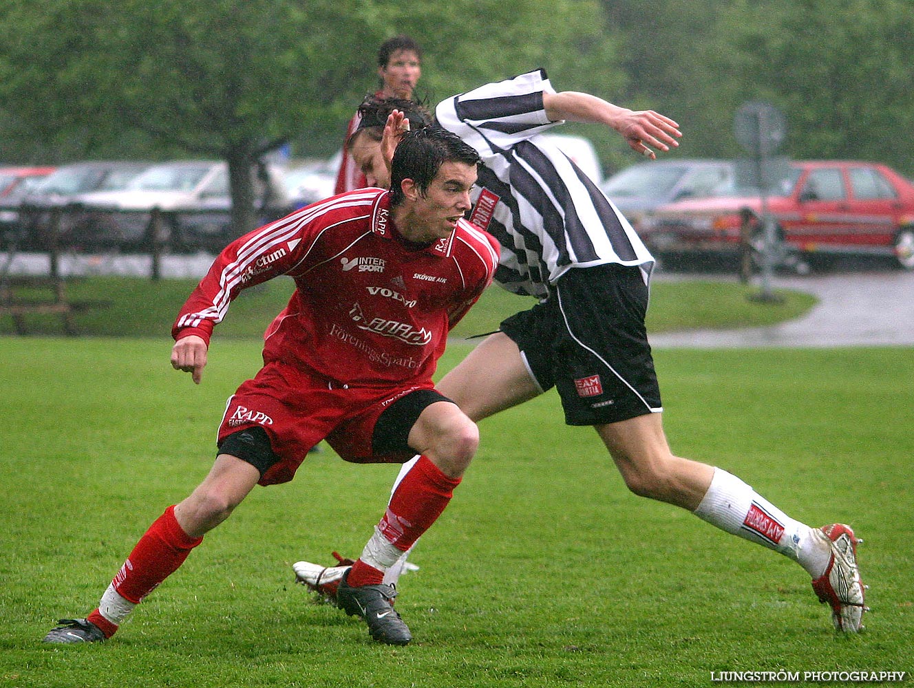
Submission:
[[[478,159],[450,132],[412,132],[394,156],[389,192],[305,206],[219,254],[175,321],[171,364],[199,383],[229,303],[288,275],[295,290],[264,334],[264,365],[229,397],[205,480],[140,538],[99,606],[86,619],[61,619],[46,641],[110,638],[255,485],[291,481],[322,439],[355,462],[420,453],[338,590],[373,638],[411,640],[384,572],[449,503],[479,439],[431,381],[448,331],[491,283],[498,259],[494,238],[463,218]]]

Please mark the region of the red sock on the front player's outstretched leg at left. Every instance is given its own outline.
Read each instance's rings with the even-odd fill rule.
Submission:
[[[169,506],[133,547],[133,552],[112,581],[114,589],[134,604],[141,602],[174,573],[184,563],[190,550],[201,542],[202,537],[191,537],[184,532],[175,519],[175,507]]]

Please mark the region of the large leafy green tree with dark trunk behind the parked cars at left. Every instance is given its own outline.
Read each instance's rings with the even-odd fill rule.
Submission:
[[[0,124],[20,158],[224,159],[240,232],[254,226],[260,154],[286,141],[303,153],[338,147],[373,90],[377,46],[397,33],[425,48],[430,99],[537,66],[563,88],[622,81],[594,2],[422,10],[405,0],[0,0]]]

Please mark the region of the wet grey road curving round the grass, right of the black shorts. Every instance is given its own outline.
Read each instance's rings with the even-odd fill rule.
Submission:
[[[682,277],[663,272],[657,275],[658,280]],[[787,323],[654,334],[651,344],[657,348],[914,346],[914,272],[851,268],[825,274],[776,275],[771,286],[813,293],[820,302],[811,312]]]

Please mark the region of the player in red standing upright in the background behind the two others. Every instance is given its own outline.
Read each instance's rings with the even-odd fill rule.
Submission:
[[[377,76],[380,88],[378,98],[402,98],[409,100],[422,75],[422,49],[409,36],[389,38],[377,50]],[[346,127],[345,141],[358,129],[359,113],[353,115]],[[358,169],[352,155],[343,146],[340,168],[336,173],[335,194],[367,186],[365,175]]]

